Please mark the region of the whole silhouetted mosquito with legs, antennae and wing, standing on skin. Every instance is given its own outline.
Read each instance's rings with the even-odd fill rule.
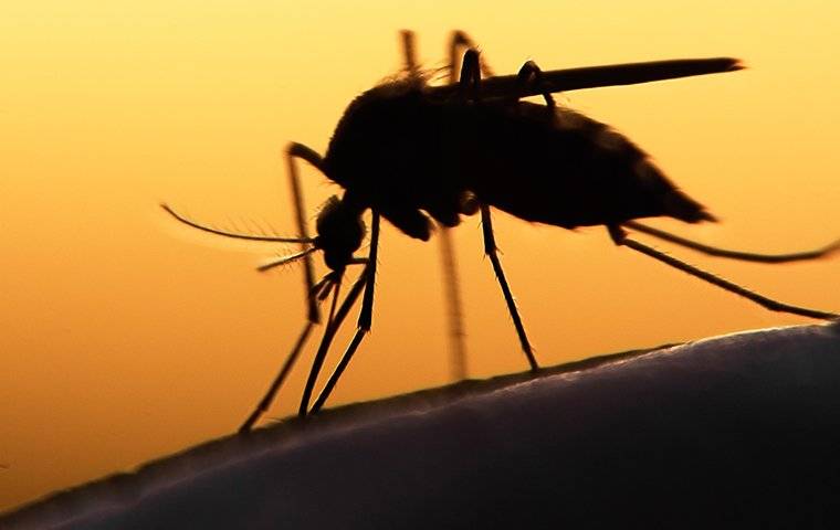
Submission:
[[[837,315],[783,304],[701,271],[630,239],[626,229],[706,254],[743,261],[783,263],[815,259],[840,247],[840,241],[805,253],[763,255],[726,251],[648,227],[640,218],[670,216],[686,223],[715,221],[703,205],[680,191],[644,151],[605,124],[556,104],[553,94],[580,88],[645,83],[741,70],[728,57],[675,60],[543,72],[526,62],[516,75],[494,76],[473,41],[453,33],[449,44],[449,83],[433,86],[414,59],[413,35],[402,32],[405,68],[400,77],[359,95],[339,120],[325,156],[297,142],[286,149],[294,200],[296,237],[276,237],[220,230],[191,220],[166,204],[181,223],[227,237],[298,243],[301,251],[259,267],[303,261],[307,320],[291,353],[263,399],[240,427],[248,432],[267,410],[313,327],[321,304],[332,304],[317,352],[303,391],[298,415],[317,412],[326,402],[350,359],[370,330],[380,218],[406,235],[428,241],[432,220],[442,227],[462,215],[480,213],[484,252],[489,256],[511,314],[523,353],[532,370],[534,357],[514,303],[493,234],[491,206],[519,219],[565,229],[605,225],[617,245],[627,246],[666,265],[747,298],[774,311],[817,319]],[[524,100],[542,96],[544,104]],[[316,220],[311,236],[305,222],[296,160],[302,159],[344,188]],[[369,252],[356,256],[366,236],[363,215],[370,215]],[[431,218],[431,219],[430,219]],[[440,231],[447,237],[447,231]],[[451,244],[444,263],[454,271]],[[315,280],[312,254],[321,251],[329,272]],[[450,257],[445,254],[449,252]],[[339,301],[347,267],[361,273]],[[456,282],[449,282],[450,314],[460,318]],[[454,294],[454,295],[453,295]],[[361,297],[357,330],[312,406],[312,394],[337,330]],[[452,335],[461,329],[451,326]],[[455,337],[455,341],[460,340]]]

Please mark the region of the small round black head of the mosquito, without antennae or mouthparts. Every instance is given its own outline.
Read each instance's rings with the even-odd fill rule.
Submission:
[[[344,271],[365,239],[361,211],[336,195],[318,213],[316,230],[315,246],[324,251],[324,263],[333,271]]]

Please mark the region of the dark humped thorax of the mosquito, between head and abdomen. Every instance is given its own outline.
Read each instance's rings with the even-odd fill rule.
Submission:
[[[350,103],[327,147],[323,171],[353,203],[370,208],[406,235],[428,241],[433,218],[459,222],[461,127],[422,84],[397,80]],[[345,201],[348,195],[345,195]]]

